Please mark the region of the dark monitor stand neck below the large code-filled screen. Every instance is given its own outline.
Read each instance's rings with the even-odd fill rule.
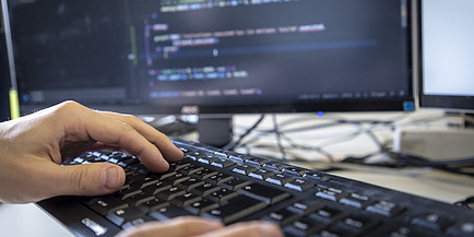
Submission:
[[[233,140],[232,115],[220,117],[200,116],[198,122],[199,142],[223,147]]]

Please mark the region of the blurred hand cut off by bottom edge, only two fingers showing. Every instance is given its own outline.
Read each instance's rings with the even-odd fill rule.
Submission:
[[[177,217],[165,222],[149,222],[120,232],[116,237],[283,237],[279,226],[268,222],[237,223],[227,227],[202,217]]]

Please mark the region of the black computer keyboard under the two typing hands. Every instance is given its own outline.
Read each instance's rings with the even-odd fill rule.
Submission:
[[[102,197],[57,197],[37,204],[76,236],[114,236],[149,221],[199,215],[233,224],[277,223],[286,236],[474,236],[474,211],[281,162],[173,140],[185,158],[150,173],[119,152],[70,164],[109,162],[127,174]]]

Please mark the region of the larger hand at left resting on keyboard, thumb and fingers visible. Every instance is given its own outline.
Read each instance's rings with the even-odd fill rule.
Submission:
[[[0,201],[28,203],[64,194],[100,195],[120,189],[121,167],[108,163],[60,166],[61,158],[118,145],[152,171],[183,154],[140,119],[66,102],[0,123]],[[166,159],[167,161],[166,161]]]

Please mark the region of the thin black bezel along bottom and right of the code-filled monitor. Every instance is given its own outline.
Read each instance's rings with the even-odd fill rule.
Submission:
[[[2,0],[7,2],[7,0]],[[199,115],[234,115],[234,114],[260,114],[260,112],[317,112],[317,111],[413,111],[413,104],[415,99],[415,79],[413,76],[413,5],[412,1],[407,1],[407,38],[406,38],[406,54],[407,54],[407,69],[410,80],[407,81],[408,87],[406,95],[403,97],[393,98],[367,98],[367,99],[337,99],[337,100],[315,100],[315,102],[272,102],[263,104],[236,104],[236,105],[170,105],[159,107],[157,105],[123,105],[123,104],[109,104],[96,105],[87,104],[86,106],[102,110],[114,110],[133,115],[179,115],[179,114],[199,114]],[[401,79],[402,80],[402,79]],[[403,79],[405,80],[405,79]],[[73,98],[72,98],[73,99]],[[51,104],[21,104],[21,112],[23,115],[33,112]],[[186,108],[191,109],[192,112],[187,112]]]

